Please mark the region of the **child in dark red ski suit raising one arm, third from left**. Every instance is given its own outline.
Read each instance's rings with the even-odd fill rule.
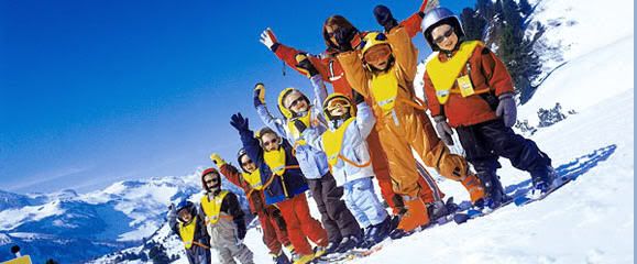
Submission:
[[[289,258],[282,249],[282,245],[292,248],[285,230],[285,220],[283,220],[281,210],[276,206],[265,205],[261,174],[254,162],[250,160],[243,148],[239,151],[237,157],[243,173],[226,163],[217,153],[210,155],[210,160],[230,183],[241,187],[245,193],[245,197],[250,202],[250,211],[259,217],[263,230],[263,243],[270,249],[270,254],[273,256],[274,262],[277,264],[289,264]]]

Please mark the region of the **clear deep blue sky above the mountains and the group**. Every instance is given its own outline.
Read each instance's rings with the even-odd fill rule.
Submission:
[[[259,43],[325,50],[326,18],[378,30],[375,4],[400,20],[419,1],[1,1],[0,189],[88,191],[117,180],[178,176],[240,147],[233,112],[262,124],[252,87],[267,101],[306,78]],[[458,12],[474,1],[441,1]],[[415,38],[420,56],[429,53]]]

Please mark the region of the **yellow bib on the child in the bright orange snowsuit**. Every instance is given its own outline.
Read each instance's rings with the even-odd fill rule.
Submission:
[[[398,78],[394,69],[374,75],[371,88],[372,97],[384,114],[394,110],[396,96],[398,96]]]

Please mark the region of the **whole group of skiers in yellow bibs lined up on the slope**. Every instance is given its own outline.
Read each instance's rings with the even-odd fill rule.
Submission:
[[[510,129],[516,103],[504,64],[481,42],[464,40],[451,11],[426,9],[427,0],[398,22],[389,9],[377,6],[374,15],[383,32],[361,32],[343,16],[330,16],[320,57],[282,44],[270,29],[263,32],[261,42],[307,76],[314,95],[282,90],[281,117],[275,117],[265,103],[265,86],[256,84],[254,107],[265,127],[253,132],[241,113],[231,117],[243,145],[237,155],[240,168],[212,154],[219,170],[201,175],[206,196],[200,209],[187,204],[169,213],[190,263],[209,263],[210,248],[218,249],[222,263],[252,263],[252,252],[242,243],[243,213],[235,195],[220,189],[221,175],[245,191],[275,263],[308,263],[370,248],[444,215],[443,194],[418,168],[414,153],[462,184],[476,208],[494,209],[509,199],[495,173],[499,156],[529,172],[536,193],[551,188],[550,158]],[[418,50],[411,37],[418,32],[433,51],[424,77],[426,101],[416,97],[413,85]],[[332,85],[332,94],[325,82]],[[466,157],[447,146],[453,145],[452,129]],[[391,213],[375,194],[374,177]],[[306,190],[320,222],[310,215]],[[292,258],[283,248],[293,252]]]

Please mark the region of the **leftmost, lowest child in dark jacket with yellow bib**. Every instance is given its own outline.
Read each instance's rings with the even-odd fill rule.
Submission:
[[[182,200],[176,209],[171,205],[167,218],[173,232],[184,241],[188,263],[210,264],[210,237],[195,204]]]

